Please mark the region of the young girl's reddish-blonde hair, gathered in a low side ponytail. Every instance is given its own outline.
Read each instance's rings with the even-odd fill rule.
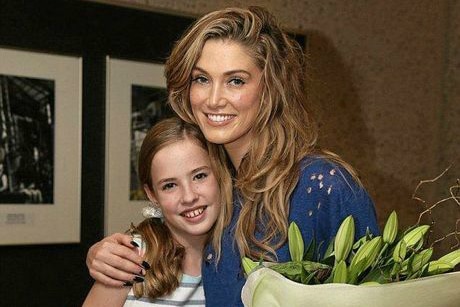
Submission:
[[[216,146],[206,141],[200,129],[193,124],[186,123],[179,118],[160,121],[149,130],[139,152],[138,174],[143,186],[147,185],[150,191],[153,191],[150,171],[155,154],[162,148],[183,140],[192,140],[207,151]],[[211,158],[211,168],[218,181],[219,189],[224,191],[220,193],[222,210],[209,234],[211,244],[218,248],[221,236],[214,236],[213,233],[216,229],[219,233],[222,232],[227,208],[225,204],[232,202],[231,178],[227,167],[220,160]],[[157,218],[144,220],[131,232],[142,236],[146,244],[145,260],[151,264],[151,269],[146,271],[144,283],[133,286],[134,294],[137,297],[156,298],[171,293],[179,286],[182,260],[185,256],[184,247],[174,240],[166,224]]]

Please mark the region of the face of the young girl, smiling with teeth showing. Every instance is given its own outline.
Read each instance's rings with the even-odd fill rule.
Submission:
[[[207,238],[220,213],[219,186],[206,150],[185,139],[167,145],[152,159],[153,193],[166,225],[182,245]]]

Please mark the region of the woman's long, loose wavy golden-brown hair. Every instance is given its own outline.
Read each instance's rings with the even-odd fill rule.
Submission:
[[[176,43],[165,76],[170,104],[182,119],[196,124],[189,98],[191,74],[204,44],[212,39],[240,44],[262,71],[261,103],[253,126],[257,137],[234,182],[242,197],[235,238],[242,255],[275,260],[275,250],[287,240],[289,198],[301,160],[317,153],[344,163],[332,153],[315,150],[317,126],[307,103],[302,48],[260,7],[209,13]],[[225,157],[222,145],[211,153]],[[256,238],[256,232],[262,237]]]

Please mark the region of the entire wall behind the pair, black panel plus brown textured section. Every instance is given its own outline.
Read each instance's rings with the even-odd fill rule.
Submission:
[[[267,6],[289,30],[308,35],[309,90],[321,118],[321,144],[358,169],[381,220],[393,209],[405,224],[416,220],[420,207],[410,197],[419,180],[434,178],[456,162],[450,176],[426,190],[434,197],[460,174],[460,1],[246,2]],[[136,44],[123,46],[118,39],[136,35],[128,30],[139,25],[137,32],[151,28],[145,35],[154,38],[158,31],[146,21],[157,17],[152,11],[198,16],[243,5],[222,0],[111,3],[136,10],[85,1],[0,0],[0,45],[84,54],[84,75],[92,78],[83,83],[82,242],[0,247],[2,306],[79,306],[91,285],[85,256],[102,237],[104,205],[105,109],[98,87],[108,50],[100,43],[115,55],[152,59],[159,55]],[[176,32],[186,23],[182,20]],[[452,229],[452,218],[459,216],[454,206],[445,209],[437,216],[443,231]]]

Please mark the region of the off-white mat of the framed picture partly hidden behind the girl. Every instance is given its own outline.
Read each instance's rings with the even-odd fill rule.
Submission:
[[[142,221],[148,202],[130,200],[132,86],[165,89],[164,65],[107,57],[105,234]]]

